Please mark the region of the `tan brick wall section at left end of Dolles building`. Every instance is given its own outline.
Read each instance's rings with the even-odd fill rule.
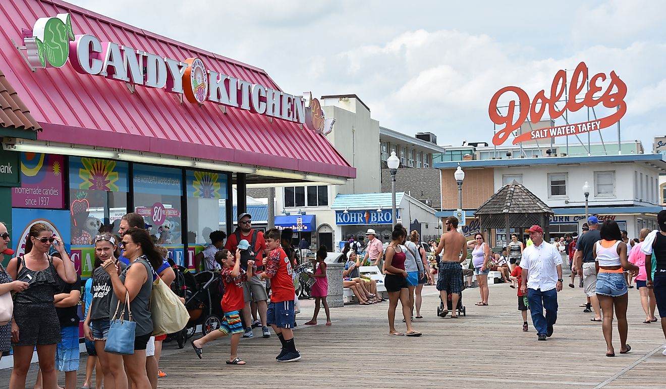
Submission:
[[[454,178],[456,169],[442,169],[442,209],[458,208],[458,184]],[[494,169],[464,169],[462,206],[466,210],[479,208],[495,194]]]

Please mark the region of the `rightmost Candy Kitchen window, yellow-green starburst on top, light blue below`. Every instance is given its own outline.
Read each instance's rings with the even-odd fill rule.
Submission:
[[[187,177],[187,268],[194,269],[194,256],[210,244],[215,230],[226,232],[226,183],[221,173],[188,170]],[[217,212],[215,212],[217,210]]]

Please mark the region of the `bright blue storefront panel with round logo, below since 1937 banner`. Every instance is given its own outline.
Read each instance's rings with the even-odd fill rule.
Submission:
[[[69,252],[70,247],[70,222],[69,211],[60,210],[27,210],[15,208],[11,212],[11,218],[14,221],[12,228],[11,242],[15,256],[22,256],[25,254],[25,242],[28,240],[30,228],[37,223],[46,224],[48,228],[53,230],[53,236],[57,236],[65,244],[65,250]],[[55,248],[52,248],[51,254],[55,253]],[[76,265],[76,264],[75,264]],[[81,272],[81,264],[77,266],[77,271]]]

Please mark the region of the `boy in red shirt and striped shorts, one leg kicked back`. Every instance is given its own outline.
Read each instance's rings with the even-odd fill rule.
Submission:
[[[202,347],[211,340],[222,338],[222,336],[231,335],[231,355],[226,361],[228,365],[244,365],[245,361],[238,358],[238,341],[243,333],[243,324],[240,321],[240,311],[245,306],[243,298],[244,281],[252,277],[252,266],[254,261],[248,260],[248,271],[240,268],[240,249],[236,249],[236,257],[229,250],[221,250],[215,253],[215,262],[222,265],[220,276],[224,283],[224,296],[222,297],[222,310],[224,318],[217,331],[209,332],[203,338],[192,340],[192,348],[196,356],[201,359],[203,354]]]

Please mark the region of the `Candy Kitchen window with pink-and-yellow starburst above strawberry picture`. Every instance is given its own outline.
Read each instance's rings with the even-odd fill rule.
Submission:
[[[101,232],[117,234],[127,214],[127,162],[95,158],[69,158],[69,214],[71,255],[90,276],[95,253],[93,238]]]

